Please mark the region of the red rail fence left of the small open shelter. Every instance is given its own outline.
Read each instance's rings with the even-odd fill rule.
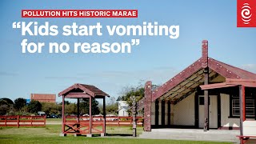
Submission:
[[[46,126],[46,116],[0,116],[0,126]]]

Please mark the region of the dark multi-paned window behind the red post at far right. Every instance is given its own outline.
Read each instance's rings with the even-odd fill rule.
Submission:
[[[232,106],[232,116],[240,116],[240,103],[239,96],[232,95],[231,97],[231,106]],[[255,117],[255,97],[252,95],[246,95],[246,117],[252,118]]]

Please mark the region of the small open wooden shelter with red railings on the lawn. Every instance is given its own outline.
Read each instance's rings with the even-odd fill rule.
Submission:
[[[66,134],[86,134],[87,137],[91,137],[92,134],[101,134],[101,136],[106,135],[106,97],[110,97],[102,90],[99,90],[96,86],[85,85],[76,83],[73,86],[62,90],[58,94],[62,97],[62,136]],[[76,116],[66,116],[65,115],[65,98],[77,98],[77,115]],[[82,117],[79,110],[80,98],[89,98],[89,116]],[[94,121],[92,115],[92,99],[102,98],[103,99],[103,117],[98,118],[98,121]],[[75,117],[75,118],[74,118]],[[71,119],[71,120],[70,120]],[[72,120],[75,119],[75,120]],[[101,130],[98,128],[102,127]]]

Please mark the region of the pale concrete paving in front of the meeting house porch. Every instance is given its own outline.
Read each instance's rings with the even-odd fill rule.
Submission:
[[[152,129],[151,132],[142,132],[139,138],[239,143],[239,139],[236,137],[239,134],[239,130],[209,130],[204,132],[202,129]]]

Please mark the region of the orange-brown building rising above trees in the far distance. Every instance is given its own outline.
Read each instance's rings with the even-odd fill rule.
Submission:
[[[56,102],[55,94],[30,94],[30,100],[38,102]]]

